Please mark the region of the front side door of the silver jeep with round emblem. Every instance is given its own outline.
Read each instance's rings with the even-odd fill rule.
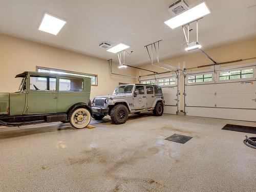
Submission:
[[[134,109],[146,108],[146,94],[144,86],[136,86],[134,91]]]

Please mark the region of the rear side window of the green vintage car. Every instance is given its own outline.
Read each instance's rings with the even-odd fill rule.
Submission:
[[[83,79],[60,77],[59,78],[59,91],[82,92],[83,91]]]

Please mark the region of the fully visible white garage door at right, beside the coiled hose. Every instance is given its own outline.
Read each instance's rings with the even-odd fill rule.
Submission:
[[[256,121],[255,65],[186,74],[186,115]]]

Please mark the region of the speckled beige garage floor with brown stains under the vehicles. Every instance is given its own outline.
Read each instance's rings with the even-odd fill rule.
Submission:
[[[221,130],[226,123],[256,126],[143,115],[123,125],[92,120],[95,129],[0,127],[0,190],[256,191],[256,150],[243,143],[255,135]],[[174,133],[193,138],[164,140]]]

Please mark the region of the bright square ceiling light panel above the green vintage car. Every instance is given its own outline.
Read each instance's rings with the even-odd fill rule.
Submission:
[[[65,20],[50,15],[49,13],[45,13],[38,30],[57,35],[66,23]]]

